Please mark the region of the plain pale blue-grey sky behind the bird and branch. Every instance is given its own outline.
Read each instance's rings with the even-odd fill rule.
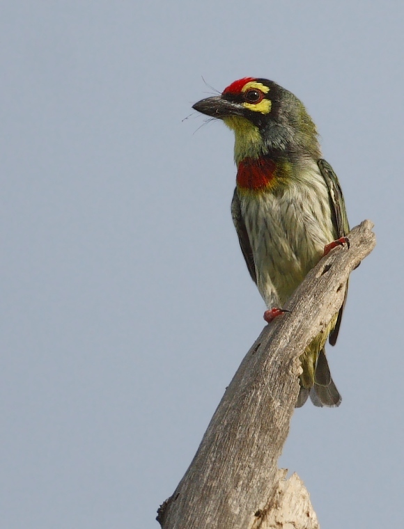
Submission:
[[[398,0],[3,1],[1,528],[159,527],[263,329],[233,136],[191,109],[250,76],[304,102],[378,237],[327,349],[343,402],[295,411],[279,464],[323,528],[401,526],[403,26]]]

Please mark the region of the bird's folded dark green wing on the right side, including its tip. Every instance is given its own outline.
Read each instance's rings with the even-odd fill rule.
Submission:
[[[348,216],[346,214],[345,201],[343,200],[342,189],[339,184],[338,178],[332,169],[332,166],[330,166],[329,163],[323,159],[318,160],[317,163],[318,167],[320,168],[320,173],[325,180],[325,184],[327,184],[329,205],[331,206],[332,223],[335,230],[335,238],[339,239],[340,237],[348,235],[349,232]],[[333,331],[329,333],[329,343],[331,345],[335,345],[336,338],[338,338],[339,327],[341,325],[341,318],[347,294],[348,281],[346,283],[345,297],[343,299],[342,306],[339,309],[335,327]]]

